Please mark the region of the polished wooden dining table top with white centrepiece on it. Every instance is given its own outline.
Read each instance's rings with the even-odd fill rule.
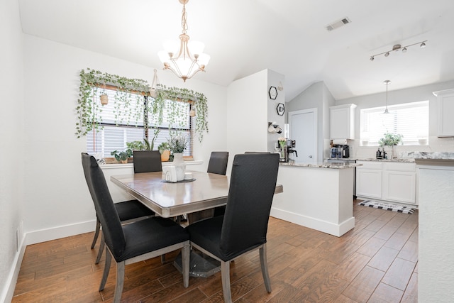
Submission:
[[[162,172],[111,176],[111,181],[165,218],[225,205],[228,177],[192,171],[194,181],[162,182]],[[282,192],[282,185],[275,193]]]

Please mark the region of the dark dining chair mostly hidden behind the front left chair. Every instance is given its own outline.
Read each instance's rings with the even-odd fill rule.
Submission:
[[[88,155],[87,153],[82,153],[82,155]],[[87,175],[85,175],[87,178]],[[89,185],[90,186],[90,185]],[[92,189],[90,189],[92,190]],[[129,200],[118,202],[115,205],[116,212],[118,213],[118,217],[123,224],[128,224],[133,221],[143,220],[150,216],[155,216],[155,212],[149,209],[147,206],[143,205],[142,203],[138,202],[138,200]],[[98,240],[99,231],[101,229],[101,222],[99,221],[98,215],[96,214],[96,228],[94,231],[94,237],[92,241],[91,248],[93,249],[96,245],[96,241]],[[104,252],[104,236],[101,234],[101,241],[99,243],[99,251],[96,257],[95,264],[99,263],[101,260],[102,253]]]

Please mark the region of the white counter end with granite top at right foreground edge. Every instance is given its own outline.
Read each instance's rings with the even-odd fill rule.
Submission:
[[[419,170],[419,302],[454,298],[454,153],[416,158]]]

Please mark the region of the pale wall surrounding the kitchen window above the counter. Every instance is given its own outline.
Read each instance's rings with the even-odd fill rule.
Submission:
[[[412,87],[409,89],[399,89],[396,91],[388,90],[388,105],[402,104],[416,101],[429,101],[429,132],[428,145],[398,145],[395,150],[399,151],[454,151],[454,138],[437,138],[438,128],[438,104],[436,97],[432,94],[443,89],[454,88],[454,81],[428,84],[421,87]],[[385,89],[385,87],[384,87]],[[355,111],[355,138],[353,143],[354,158],[374,158],[377,147],[362,147],[360,144],[360,110],[371,107],[384,106],[386,92],[380,94],[370,94],[348,99],[337,100],[336,105],[356,104]]]

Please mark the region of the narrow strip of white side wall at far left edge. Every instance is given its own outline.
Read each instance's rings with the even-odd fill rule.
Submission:
[[[23,220],[23,36],[16,0],[0,1],[0,302],[16,281]],[[19,243],[20,244],[20,243]],[[22,252],[23,253],[23,252]]]

